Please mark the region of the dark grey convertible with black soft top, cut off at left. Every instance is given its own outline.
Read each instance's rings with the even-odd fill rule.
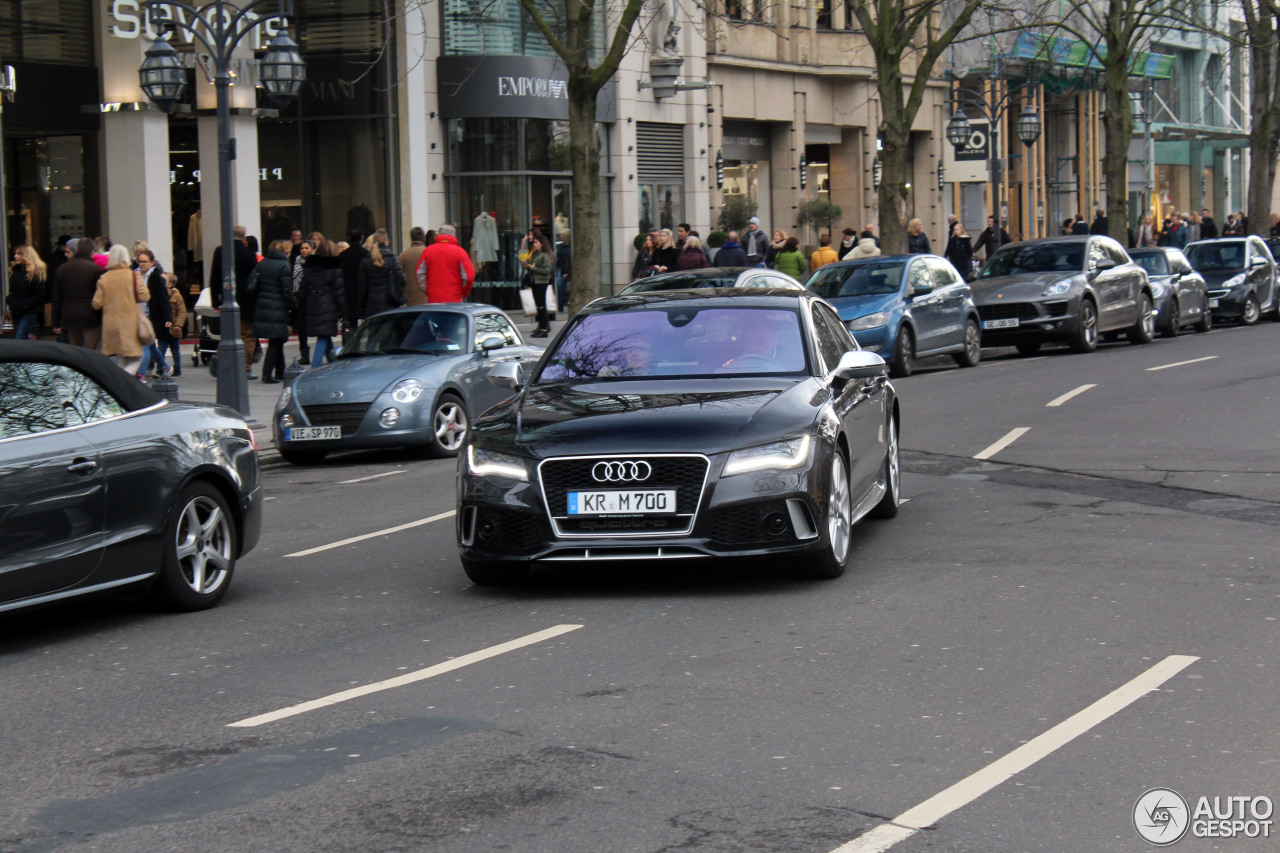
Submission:
[[[261,496],[234,411],[168,402],[81,347],[0,342],[0,611],[122,588],[212,607]]]

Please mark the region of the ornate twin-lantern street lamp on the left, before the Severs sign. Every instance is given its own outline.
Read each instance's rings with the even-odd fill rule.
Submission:
[[[248,377],[244,370],[244,345],[239,338],[239,304],[236,301],[236,246],[232,238],[232,160],[236,145],[230,134],[232,56],[239,44],[264,23],[253,10],[273,6],[271,18],[293,14],[291,0],[251,0],[236,6],[228,0],[214,0],[196,8],[180,0],[145,0],[141,12],[147,23],[177,28],[200,42],[214,67],[214,91],[218,96],[218,206],[223,263],[221,341],[218,345],[218,402],[248,416]],[[179,14],[175,14],[179,10]],[[282,29],[266,47],[257,64],[262,88],[279,106],[287,106],[302,91],[307,67],[292,38]],[[147,50],[138,69],[138,81],[146,96],[164,111],[173,109],[187,88],[187,69],[178,53],[161,36]]]

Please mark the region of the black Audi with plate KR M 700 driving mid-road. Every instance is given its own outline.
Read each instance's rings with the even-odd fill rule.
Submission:
[[[457,537],[477,584],[538,560],[799,555],[835,578],[850,528],[899,503],[884,360],[805,291],[596,300],[475,421]],[[790,564],[787,564],[790,565]]]

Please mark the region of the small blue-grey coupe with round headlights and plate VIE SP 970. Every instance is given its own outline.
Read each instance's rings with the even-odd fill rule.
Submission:
[[[280,394],[275,447],[294,465],[372,447],[456,456],[471,418],[511,394],[486,380],[489,370],[531,368],[541,353],[492,305],[411,305],[374,315],[333,364],[307,370]]]

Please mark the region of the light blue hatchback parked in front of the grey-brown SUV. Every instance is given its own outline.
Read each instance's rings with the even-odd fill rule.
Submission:
[[[879,255],[828,264],[805,287],[831,302],[858,346],[878,352],[895,377],[915,360],[950,355],[964,368],[982,359],[982,321],[964,277],[937,255]]]

